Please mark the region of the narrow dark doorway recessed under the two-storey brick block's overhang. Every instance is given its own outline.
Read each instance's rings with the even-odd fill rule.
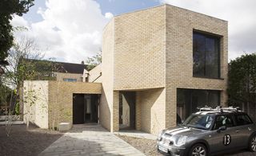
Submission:
[[[135,129],[136,92],[119,92],[119,129]]]

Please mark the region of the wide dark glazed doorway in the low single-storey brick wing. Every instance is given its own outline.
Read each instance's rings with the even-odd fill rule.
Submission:
[[[73,94],[73,124],[98,123],[97,94]]]

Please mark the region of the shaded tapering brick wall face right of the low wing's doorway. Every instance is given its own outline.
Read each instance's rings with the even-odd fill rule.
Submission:
[[[99,104],[99,123],[108,131],[111,130],[110,116],[110,103],[106,99],[106,92],[104,88],[102,88],[102,96]]]

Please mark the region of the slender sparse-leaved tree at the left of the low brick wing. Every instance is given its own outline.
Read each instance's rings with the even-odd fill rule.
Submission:
[[[22,103],[22,96],[20,95],[20,91],[23,86],[23,81],[55,79],[52,74],[54,68],[59,67],[58,64],[54,64],[53,61],[42,60],[44,55],[40,52],[38,46],[34,44],[34,40],[25,37],[23,37],[21,41],[16,41],[9,53],[10,55],[7,58],[9,65],[5,67],[6,72],[1,78],[6,86],[10,86],[10,88],[13,89],[10,96],[10,109],[8,113],[8,115],[12,115],[18,110],[15,108],[21,107],[20,109],[22,110],[22,105],[20,104]],[[31,97],[25,98],[31,103]],[[18,112],[16,112],[16,114],[17,113]],[[10,118],[8,118],[6,125],[7,135],[10,133],[9,119]]]

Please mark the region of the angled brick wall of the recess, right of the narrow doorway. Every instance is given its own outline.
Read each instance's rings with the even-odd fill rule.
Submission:
[[[136,92],[136,129],[158,134],[166,127],[166,89],[157,88]]]

